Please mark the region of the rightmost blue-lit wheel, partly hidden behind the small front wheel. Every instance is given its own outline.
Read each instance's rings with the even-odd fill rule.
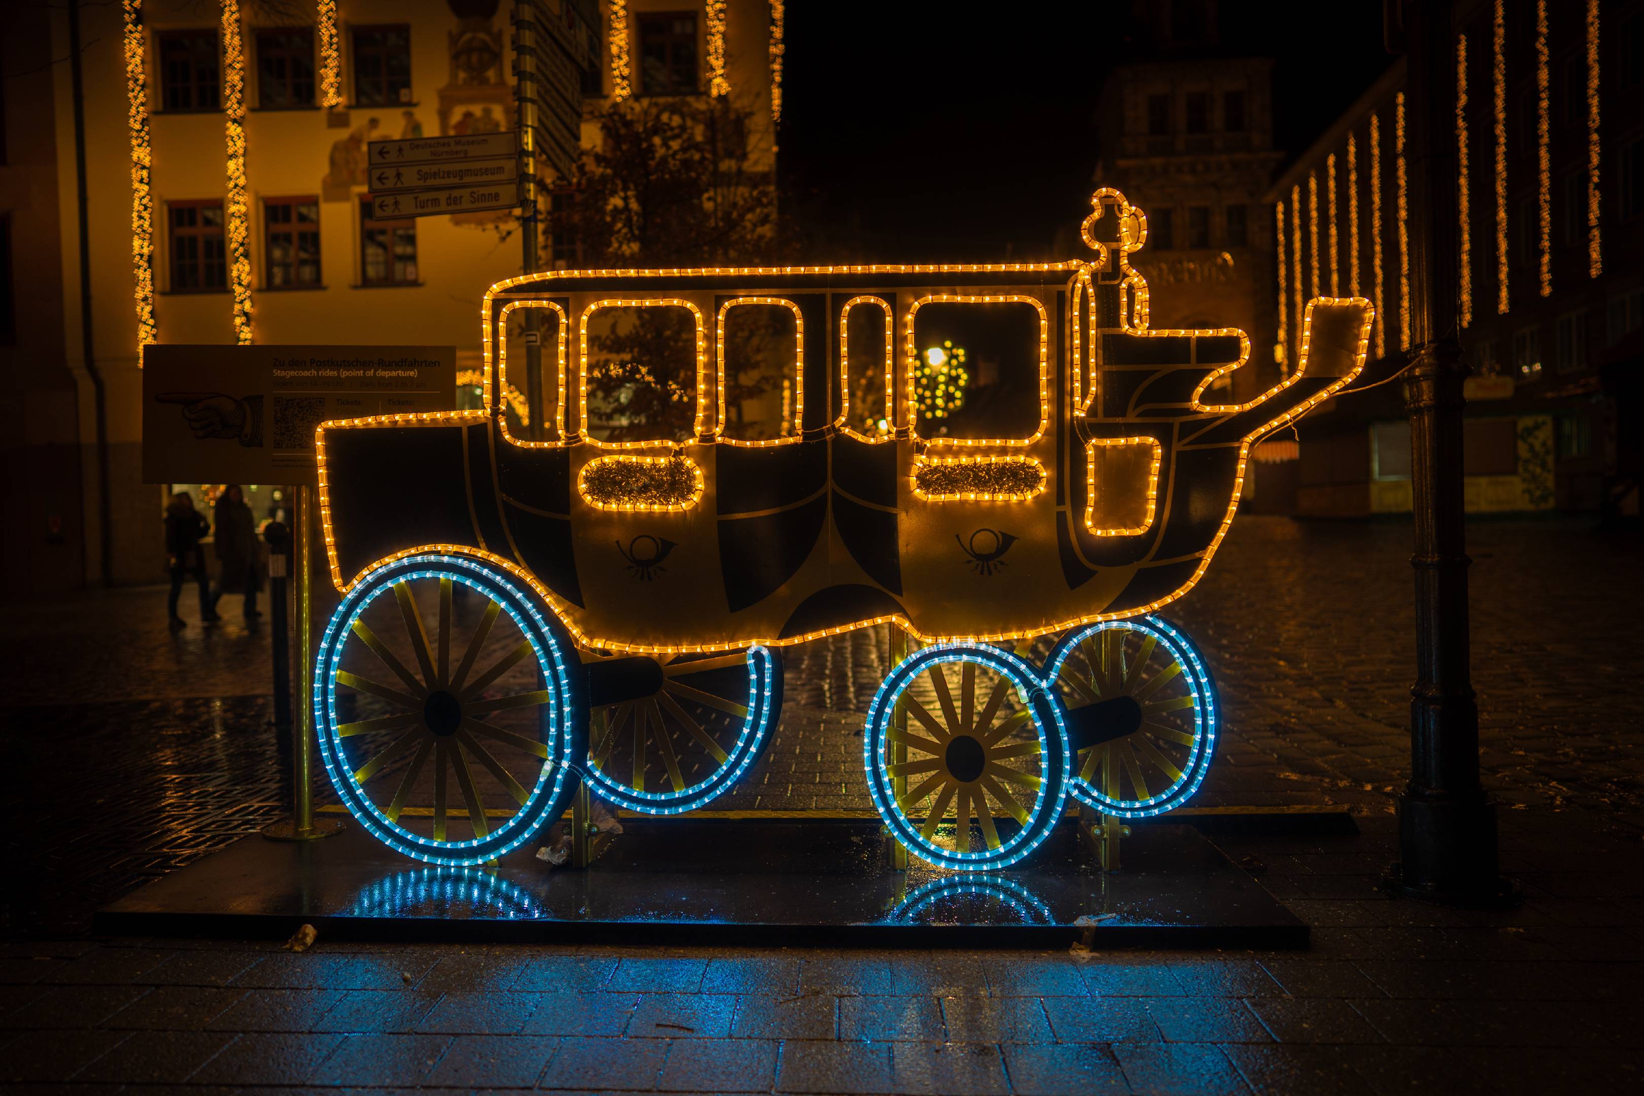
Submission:
[[[1067,708],[1074,797],[1141,818],[1185,804],[1210,771],[1217,688],[1194,641],[1159,616],[1062,638],[1047,675]]]

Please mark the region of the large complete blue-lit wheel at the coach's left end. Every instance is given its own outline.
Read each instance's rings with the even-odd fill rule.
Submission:
[[[337,795],[380,841],[431,864],[495,859],[564,812],[582,711],[559,621],[459,555],[413,555],[362,578],[314,667]]]

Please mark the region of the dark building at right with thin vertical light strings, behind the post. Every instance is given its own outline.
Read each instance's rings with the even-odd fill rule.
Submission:
[[[1471,513],[1637,514],[1644,371],[1644,3],[1458,5],[1460,342]],[[1605,102],[1600,113],[1600,97]],[[1294,360],[1307,297],[1360,294],[1373,355],[1409,353],[1404,66],[1266,194],[1266,309]],[[1401,386],[1300,426],[1295,513],[1411,509]]]

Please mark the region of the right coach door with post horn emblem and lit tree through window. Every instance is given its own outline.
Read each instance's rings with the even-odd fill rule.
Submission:
[[[901,531],[914,624],[934,634],[1009,631],[970,603],[1032,616],[1057,573],[1051,373],[1055,297],[1037,289],[927,292],[904,314],[911,498]],[[909,565],[911,564],[911,565]],[[1003,587],[1003,590],[1000,588]]]

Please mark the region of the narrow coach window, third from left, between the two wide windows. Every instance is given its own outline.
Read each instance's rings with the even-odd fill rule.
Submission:
[[[732,442],[799,437],[804,417],[799,383],[802,348],[799,312],[786,301],[730,301],[720,306],[720,437]]]

